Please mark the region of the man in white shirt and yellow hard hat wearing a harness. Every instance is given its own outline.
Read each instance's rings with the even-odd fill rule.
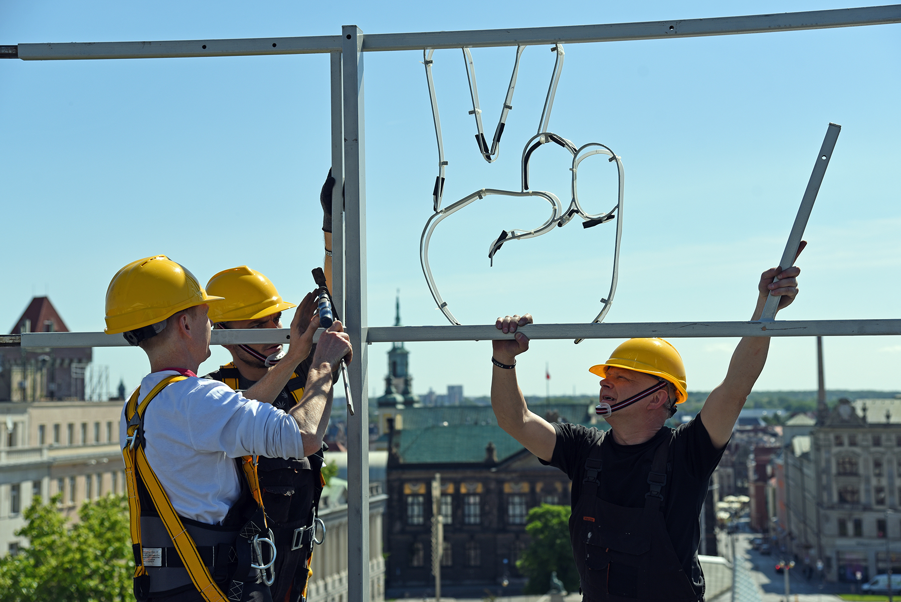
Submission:
[[[208,304],[222,298],[208,296],[191,272],[162,255],[133,261],[120,269],[106,293],[105,332],[123,333],[150,360],[150,374],[141,380],[138,403],[163,379],[187,377],[153,397],[143,415],[141,444],[171,506],[223,590],[219,597],[197,590],[196,581],[192,581],[178,558],[180,554],[173,552],[168,534],[161,529],[147,490],[139,483],[141,546],[136,546],[135,560],[143,563],[149,579],[139,583],[136,576],[138,600],[193,602],[221,600],[223,594],[228,595],[224,599],[235,601],[270,600],[262,573],[258,576],[259,571],[251,570],[250,577],[234,574],[235,566],[241,571],[241,560],[235,560],[234,548],[230,549],[226,540],[241,528],[234,523],[235,510],[248,499],[235,459],[256,455],[304,457],[319,450],[328,424],[323,412],[301,414],[292,408],[286,413],[271,404],[291,377],[293,367],[310,351],[318,325],[310,311],[296,312],[291,323],[293,344],[285,361],[243,394],[222,382],[197,378],[196,370],[210,356]],[[322,406],[324,410],[332,372],[342,358],[351,357],[350,338],[336,321],[319,339],[303,402],[295,407]],[[310,415],[320,418],[313,420]],[[123,446],[128,426],[123,415]],[[216,560],[216,551],[231,551],[231,558],[220,553]],[[240,587],[232,591],[226,588],[235,583]],[[235,594],[236,589],[241,591]]]

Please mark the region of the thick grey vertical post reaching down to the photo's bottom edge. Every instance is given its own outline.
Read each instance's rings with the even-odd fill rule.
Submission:
[[[363,32],[341,28],[344,105],[345,320],[354,357],[348,416],[348,602],[369,602],[369,383],[367,381],[366,156],[363,139]]]

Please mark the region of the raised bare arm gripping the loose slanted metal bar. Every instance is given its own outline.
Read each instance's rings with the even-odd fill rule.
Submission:
[[[804,242],[801,249],[804,249]],[[796,277],[801,270],[793,267],[784,271],[778,268],[768,269],[760,274],[758,284],[757,307],[751,320],[759,320],[763,306],[767,303],[767,296],[781,296],[778,308],[791,304],[797,295]],[[773,283],[773,278],[779,278]],[[732,436],[733,426],[738,420],[744,402],[748,400],[751,388],[760,377],[764,364],[767,362],[769,351],[769,337],[744,337],[733,351],[732,360],[729,362],[729,370],[726,378],[707,397],[704,407],[701,408],[701,421],[704,423],[707,433],[710,434],[710,442],[717,450],[725,447]]]

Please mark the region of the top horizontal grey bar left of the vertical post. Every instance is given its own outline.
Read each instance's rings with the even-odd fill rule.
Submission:
[[[239,38],[232,40],[98,41],[19,44],[19,59],[175,59],[314,54],[341,51],[341,36]]]

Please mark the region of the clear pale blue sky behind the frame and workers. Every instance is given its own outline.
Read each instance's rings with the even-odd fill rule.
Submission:
[[[838,2],[423,5],[422,3],[17,2],[0,4],[0,43],[183,40],[618,23],[843,8]],[[827,123],[842,124],[801,256],[795,319],[897,316],[901,287],[901,26],[664,41],[571,44],[551,130],[600,141],[623,158],[620,283],[608,322],[740,320],[760,271],[778,262]],[[448,182],[444,204],[481,187],[517,189],[523,143],[537,127],[553,55],[523,53],[501,159],[473,141],[460,50],[435,52]],[[514,49],[473,50],[493,132]],[[421,52],[366,55],[369,323],[443,324],[419,267],[431,214],[436,150]],[[168,254],[205,281],[247,264],[287,299],[313,287],[320,260],[318,191],[329,167],[328,59],[0,61],[0,322],[49,294],[71,330],[103,327],[109,279],[125,263]],[[559,150],[559,149],[558,149]],[[532,181],[569,198],[562,151],[536,155]],[[583,164],[589,210],[614,205],[613,168]],[[595,171],[596,170],[596,171]],[[584,178],[584,179],[583,179]],[[584,189],[583,189],[584,187]],[[595,208],[596,207],[596,208]],[[432,243],[441,293],[466,324],[530,311],[536,321],[587,322],[608,287],[613,223],[570,223],[505,245],[501,229],[532,228],[538,203],[483,201],[442,223]],[[615,341],[535,342],[521,360],[526,393],[594,393],[587,367]],[[688,388],[724,376],[734,340],[675,342]],[[901,389],[897,337],[825,342],[829,388]],[[487,394],[487,342],[409,343],[414,388],[463,384]],[[381,394],[387,345],[370,347]],[[134,387],[140,351],[98,349]],[[203,368],[226,360],[223,350]],[[777,339],[758,389],[815,388],[815,344]]]

